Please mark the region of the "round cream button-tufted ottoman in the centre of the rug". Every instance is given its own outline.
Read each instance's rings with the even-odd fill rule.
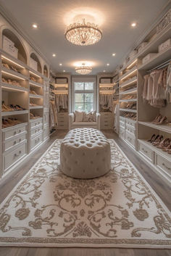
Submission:
[[[64,137],[60,149],[61,169],[72,178],[96,178],[110,169],[110,144],[100,131],[76,128]]]

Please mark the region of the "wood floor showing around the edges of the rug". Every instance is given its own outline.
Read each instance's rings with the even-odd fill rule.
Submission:
[[[67,131],[58,131],[51,136],[51,139],[31,157],[26,164],[15,170],[0,181],[0,202],[14,188],[20,179],[28,173],[28,170],[37,162],[43,152],[48,149],[55,139],[62,139]],[[148,165],[136,156],[127,144],[119,139],[116,133],[104,131],[109,139],[114,139],[123,152],[127,155],[133,165],[140,171],[151,187],[156,191],[164,204],[171,210],[169,186],[165,181],[154,173]],[[171,249],[120,249],[120,248],[37,248],[37,247],[0,247],[0,256],[170,256]]]

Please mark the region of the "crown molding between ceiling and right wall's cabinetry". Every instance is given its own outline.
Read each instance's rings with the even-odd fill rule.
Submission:
[[[157,16],[154,18],[154,22],[151,23],[151,25],[148,25],[144,30],[142,35],[135,41],[135,43],[130,47],[130,49],[127,51],[127,54],[124,55],[124,57],[122,57],[120,59],[119,64],[115,67],[114,70],[117,69],[117,67],[119,67],[120,65],[122,65],[122,63],[125,60],[125,57],[128,57],[128,55],[130,54],[130,51],[133,51],[133,49],[137,48],[139,44],[141,44],[141,42],[146,38],[146,36],[149,35],[149,33],[157,26],[157,23],[159,22],[159,20],[162,19],[162,17],[168,12],[168,10],[171,8],[171,0],[168,0],[166,4],[164,4],[164,6],[162,7],[162,9],[159,10]]]

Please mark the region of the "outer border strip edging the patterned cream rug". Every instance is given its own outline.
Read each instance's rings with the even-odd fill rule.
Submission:
[[[120,148],[120,146],[117,144],[117,142],[114,139],[108,139],[109,141],[114,142],[114,144],[117,146],[117,149],[120,150],[120,152],[123,154],[123,156],[126,158],[126,160],[128,160],[128,162],[130,163],[130,165],[136,170],[136,172],[138,173],[138,175],[140,176],[140,178],[142,179],[142,181],[146,184],[146,186],[148,187],[148,189],[151,190],[152,193],[154,193],[154,196],[157,198],[158,202],[160,203],[160,205],[162,205],[162,207],[164,208],[164,210],[167,212],[167,214],[169,215],[170,210],[167,208],[167,206],[164,204],[164,202],[162,202],[162,199],[159,197],[159,195],[157,194],[156,191],[154,191],[153,188],[151,188],[151,185],[146,181],[145,178],[143,178],[143,176],[141,175],[141,173],[139,172],[138,168],[135,167],[135,165],[133,165],[133,163],[129,160],[129,158],[127,157],[127,155],[122,151],[122,149]],[[54,146],[54,144],[57,141],[62,141],[62,139],[56,139],[49,147],[48,149],[46,149],[46,151],[42,154],[42,156],[36,161],[36,163],[30,168],[30,170],[28,170],[28,173],[31,172],[31,170],[33,170],[33,168],[36,167],[36,165],[38,164],[38,162],[40,162],[42,160],[42,158],[44,157],[44,155],[49,152],[49,150],[51,149],[51,147]],[[15,188],[17,186],[20,186],[20,184],[22,183],[22,181],[25,180],[25,177],[28,176],[28,173],[25,173],[25,176],[22,177],[22,179],[14,186],[14,188],[12,189],[12,191],[9,192],[9,194],[7,195],[7,197],[5,197],[5,199],[1,202],[0,204],[0,209],[2,207],[4,207],[5,202],[7,202],[7,199],[9,199],[9,197],[11,196],[11,194],[13,193],[13,191],[15,190]],[[10,244],[9,242],[1,242],[1,239],[3,239],[3,237],[0,237],[0,247],[56,247],[56,248],[68,248],[68,247],[75,247],[75,248],[83,248],[83,247],[88,247],[88,248],[139,248],[139,249],[171,249],[171,240],[167,239],[167,240],[149,240],[152,241],[151,244],[143,244],[142,241],[143,239],[135,239],[138,243],[137,244],[131,244],[131,241],[133,241],[133,239],[125,239],[125,240],[130,240],[129,244],[121,244],[121,243],[116,243],[116,241],[120,241],[120,239],[107,239],[108,244],[102,244],[101,242],[99,242],[99,244],[90,244],[90,242],[88,244],[79,244],[78,245],[78,239],[77,239],[77,244],[70,244],[70,243],[57,243],[57,241],[55,243],[51,243],[51,244],[42,244],[43,238],[34,238],[31,237],[31,239],[38,239],[40,240],[39,244],[38,242],[36,242],[36,244],[33,244],[33,242],[25,242],[23,241],[24,238],[22,238],[22,241],[17,241],[16,243],[14,241],[12,241]],[[12,239],[14,240],[14,237],[6,237],[4,236],[4,239]],[[25,239],[30,239],[30,238],[25,238]],[[63,239],[58,239],[58,240],[63,240]],[[74,239],[75,240],[75,239]],[[93,239],[87,239],[88,241],[93,241]],[[101,241],[101,239],[94,239],[96,241]],[[102,239],[104,241],[104,239]],[[80,239],[79,242],[83,242],[83,239]],[[110,241],[110,242],[109,242]],[[115,242],[114,242],[115,241]],[[170,244],[153,244],[154,241],[161,241],[162,243],[170,241]],[[19,244],[20,243],[20,244]],[[160,242],[159,242],[160,243]],[[161,247],[162,246],[162,247]]]

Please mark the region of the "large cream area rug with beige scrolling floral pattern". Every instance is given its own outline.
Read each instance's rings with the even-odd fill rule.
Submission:
[[[64,176],[60,141],[0,208],[0,246],[171,247],[170,211],[113,140],[107,175]]]

